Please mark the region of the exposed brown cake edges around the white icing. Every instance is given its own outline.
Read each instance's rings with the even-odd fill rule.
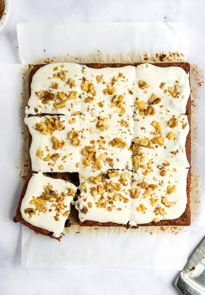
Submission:
[[[122,64],[122,63],[115,63],[115,64],[100,64],[100,63],[89,63],[89,64],[85,64],[86,66],[88,67],[91,67],[91,68],[95,68],[95,69],[101,69],[101,68],[105,68],[105,67],[123,67],[123,66],[129,66],[129,65],[132,65],[132,66],[138,66],[140,65],[141,63],[133,63],[133,64]],[[153,64],[154,66],[159,66],[159,67],[169,67],[169,66],[178,66],[178,67],[181,67],[183,70],[185,70],[186,73],[189,73],[190,72],[190,65],[189,63],[186,63],[186,62],[174,62],[174,63],[156,63],[156,64]],[[29,97],[31,95],[31,82],[32,82],[32,77],[33,75],[36,73],[36,71],[41,68],[42,66],[45,66],[44,64],[43,65],[36,65],[36,66],[33,66],[32,70],[30,71],[30,74],[29,74]],[[190,84],[190,80],[189,80],[189,84]],[[191,165],[191,129],[190,129],[190,114],[191,114],[191,98],[189,96],[189,99],[188,99],[188,102],[187,102],[187,106],[186,106],[186,115],[188,117],[188,122],[189,122],[189,133],[187,135],[187,138],[186,138],[186,143],[185,143],[185,148],[186,148],[186,156],[187,156],[187,159],[188,159],[188,162],[189,162],[189,165]],[[32,141],[32,137],[29,133],[29,147],[30,147],[30,144],[31,144],[31,141]],[[31,167],[31,160],[29,159],[30,161],[30,167]],[[29,182],[29,179],[31,178],[31,175],[32,175],[32,172],[30,172],[27,180],[26,180],[26,183],[25,183],[25,186],[22,190],[22,193],[21,193],[21,196],[20,196],[20,200],[19,200],[19,204],[18,204],[18,207],[17,207],[17,211],[16,211],[16,216],[14,217],[14,221],[17,222],[17,221],[20,221],[22,224],[30,227],[31,229],[35,230],[36,232],[39,232],[39,233],[42,233],[42,234],[45,234],[45,235],[48,235],[50,236],[51,238],[55,238],[52,233],[48,232],[47,230],[45,229],[40,229],[40,228],[37,228],[33,225],[30,225],[28,222],[26,222],[25,220],[23,220],[21,214],[20,214],[20,206],[21,206],[21,201],[25,195],[25,191],[26,191],[26,188],[27,188],[27,185],[28,185],[28,182]],[[47,175],[49,176],[49,175]],[[68,180],[73,182],[75,184],[75,182],[78,182],[79,181],[79,178],[77,177],[77,175],[74,175],[72,173],[55,173],[53,175],[50,175],[50,177],[53,177],[53,178],[62,178],[62,179],[65,179],[65,180]],[[78,179],[78,180],[77,180]],[[73,181],[72,181],[73,180]],[[187,175],[187,187],[186,187],[186,193],[187,193],[187,204],[186,204],[186,209],[185,209],[185,212],[179,217],[179,218],[176,218],[176,219],[173,219],[173,220],[162,220],[162,221],[159,221],[159,222],[149,222],[149,223],[146,223],[146,224],[141,224],[139,226],[163,226],[163,225],[175,225],[175,226],[179,226],[179,225],[190,225],[190,220],[191,220],[191,212],[190,212],[190,205],[189,205],[189,195],[190,195],[190,182],[191,182],[191,168],[189,168],[189,171],[188,171],[188,175]],[[81,225],[81,226],[124,226],[126,228],[128,228],[128,224],[126,225],[122,225],[122,224],[117,224],[117,223],[113,223],[113,222],[97,222],[97,221],[91,221],[91,220],[85,220],[83,222],[81,221],[78,221],[78,224]],[[138,226],[133,226],[132,228],[138,228]],[[60,240],[60,238],[57,238],[58,240]]]

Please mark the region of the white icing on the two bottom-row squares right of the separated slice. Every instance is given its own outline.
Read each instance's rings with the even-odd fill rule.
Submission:
[[[117,176],[109,178],[109,172],[105,172],[85,180],[80,185],[81,194],[76,202],[79,219],[129,222],[130,226],[136,226],[178,218],[187,203],[188,169],[169,170],[165,176],[160,176],[159,169],[154,169],[151,173],[152,177],[155,175],[154,179],[150,175],[142,179],[130,171],[112,170]],[[142,188],[142,182],[147,188]],[[174,191],[170,193],[169,188]]]

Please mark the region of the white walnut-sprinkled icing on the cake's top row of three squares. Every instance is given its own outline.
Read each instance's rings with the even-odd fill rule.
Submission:
[[[69,79],[73,83],[69,84]],[[93,84],[95,93],[91,93],[89,88],[87,88],[88,90],[82,89],[83,80]],[[149,87],[140,89],[138,87],[139,80],[145,81]],[[57,83],[57,89],[53,88],[53,83]],[[163,88],[159,87],[161,83],[165,83]],[[168,90],[176,84],[180,86],[177,89],[179,93],[177,98],[173,98]],[[116,88],[114,93],[112,93],[113,88]],[[108,94],[104,89],[109,89],[112,94]],[[46,104],[42,103],[43,99],[41,98],[44,91],[53,93],[55,96],[52,100],[48,100]],[[60,98],[57,97],[59,92],[65,93],[66,97],[62,100],[66,100],[66,104],[64,107],[56,109],[54,103],[60,102]],[[77,92],[76,97],[69,97],[71,92]],[[113,111],[119,112],[118,108],[115,108],[115,110],[110,108],[113,94],[118,94],[124,96],[123,107],[125,107],[127,114],[132,115],[131,106],[134,104],[135,98],[140,97],[141,100],[148,102],[153,93],[161,98],[161,105],[166,105],[169,111],[178,114],[185,113],[190,94],[189,73],[187,74],[180,67],[161,68],[147,63],[137,67],[125,66],[103,69],[92,69],[73,63],[48,64],[41,67],[33,75],[31,96],[26,114],[73,115],[76,111],[81,111],[83,114],[89,112],[91,116],[99,115],[102,112],[104,115],[112,114]],[[88,97],[93,99],[92,102],[84,102]],[[103,107],[100,107],[98,103]]]

